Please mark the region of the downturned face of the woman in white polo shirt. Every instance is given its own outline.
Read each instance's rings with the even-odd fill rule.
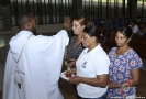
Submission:
[[[87,33],[82,34],[82,44],[85,47],[90,47],[92,44],[92,37],[89,36]]]

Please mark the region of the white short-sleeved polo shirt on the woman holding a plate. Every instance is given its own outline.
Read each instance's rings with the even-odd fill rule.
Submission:
[[[96,46],[89,53],[85,48],[80,54],[76,66],[77,75],[80,77],[94,78],[97,75],[109,74],[110,59],[100,45]],[[77,91],[83,98],[99,98],[106,92],[108,87],[93,87],[80,82],[77,85]]]

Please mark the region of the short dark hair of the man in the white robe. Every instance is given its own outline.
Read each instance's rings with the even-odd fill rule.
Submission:
[[[34,15],[29,12],[23,12],[16,18],[16,24],[20,30],[24,29],[26,22],[31,22],[34,19]]]

